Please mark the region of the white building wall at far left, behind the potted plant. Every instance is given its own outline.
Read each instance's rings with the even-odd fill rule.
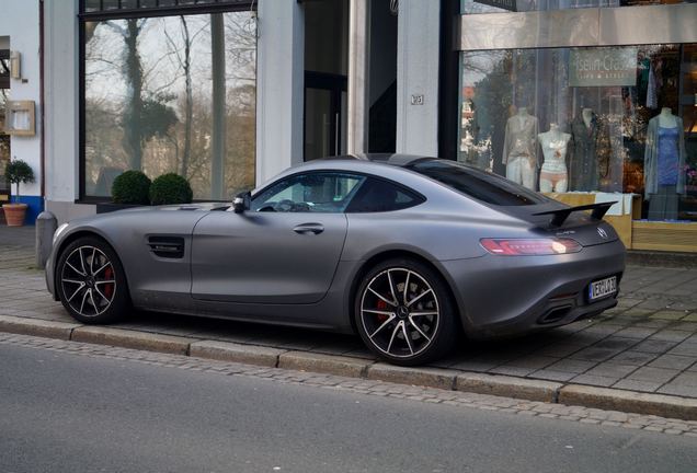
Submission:
[[[22,184],[22,196],[41,196],[41,71],[38,0],[3,0],[0,14],[0,37],[9,43],[10,50],[21,54],[22,78],[10,79],[10,97],[15,101],[34,101],[36,104],[36,135],[12,136],[12,159],[26,161],[36,176],[34,184]],[[12,192],[15,187],[12,186]]]

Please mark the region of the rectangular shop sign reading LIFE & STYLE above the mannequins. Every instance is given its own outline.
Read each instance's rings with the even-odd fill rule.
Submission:
[[[569,85],[637,85],[637,48],[571,49]]]

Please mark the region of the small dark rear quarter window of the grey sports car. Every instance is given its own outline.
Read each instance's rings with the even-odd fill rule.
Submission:
[[[420,195],[389,181],[368,178],[356,192],[347,212],[380,212],[400,210],[424,201]]]

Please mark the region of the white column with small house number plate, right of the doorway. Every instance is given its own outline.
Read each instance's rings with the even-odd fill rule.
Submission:
[[[397,38],[398,153],[436,155],[438,152],[439,33],[439,1],[400,0]]]

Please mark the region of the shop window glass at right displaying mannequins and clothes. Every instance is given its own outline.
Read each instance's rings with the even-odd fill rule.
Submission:
[[[461,53],[458,161],[697,221],[697,45]]]

